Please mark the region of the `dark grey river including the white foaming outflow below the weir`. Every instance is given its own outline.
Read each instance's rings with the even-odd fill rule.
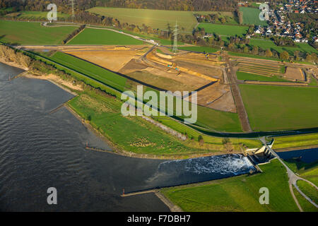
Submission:
[[[242,155],[148,160],[86,150],[110,150],[65,107],[67,93],[49,81],[13,78],[21,69],[0,63],[0,210],[168,211],[154,194],[126,192],[203,182],[248,173]],[[58,205],[47,204],[55,187]]]

